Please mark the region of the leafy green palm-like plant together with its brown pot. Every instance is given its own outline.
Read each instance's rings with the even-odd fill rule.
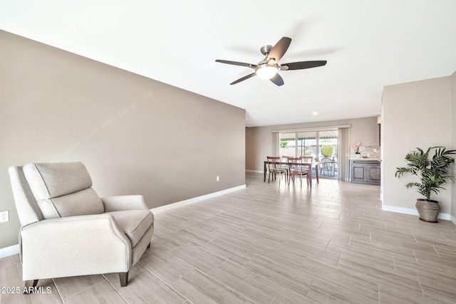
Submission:
[[[396,168],[395,177],[401,178],[407,173],[418,177],[419,182],[410,182],[405,187],[417,187],[418,193],[424,196],[424,199],[418,199],[415,204],[420,219],[437,223],[440,205],[438,201],[432,200],[430,195],[431,192],[438,194],[440,189],[445,189],[442,185],[447,181],[455,181],[450,171],[455,159],[450,155],[456,154],[456,150],[445,150],[442,146],[429,147],[426,152],[420,148],[416,149],[417,151],[405,155],[407,165]],[[434,152],[432,157],[431,151]]]

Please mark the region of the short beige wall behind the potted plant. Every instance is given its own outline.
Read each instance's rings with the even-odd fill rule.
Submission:
[[[454,80],[453,80],[454,81]],[[406,189],[413,177],[395,178],[396,167],[405,165],[405,154],[415,147],[452,147],[452,80],[442,77],[383,89],[383,207],[414,211],[420,194]],[[443,214],[450,214],[452,185],[433,199]]]

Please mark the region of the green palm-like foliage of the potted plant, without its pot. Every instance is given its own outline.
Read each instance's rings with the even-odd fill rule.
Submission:
[[[455,177],[451,174],[451,164],[455,159],[451,154],[456,154],[456,150],[445,150],[445,147],[436,146],[429,147],[426,152],[420,148],[416,148],[405,155],[407,165],[405,167],[396,168],[395,177],[401,178],[404,174],[416,175],[420,182],[410,182],[405,185],[407,188],[417,187],[418,193],[425,197],[426,201],[431,201],[430,194],[437,194],[440,189],[445,189],[442,184],[447,181],[455,181]],[[434,155],[430,157],[430,152],[434,151]]]

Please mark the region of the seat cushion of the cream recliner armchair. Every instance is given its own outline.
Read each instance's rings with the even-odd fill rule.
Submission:
[[[114,216],[119,228],[130,240],[132,248],[136,246],[154,222],[154,216],[148,209],[110,211],[106,212],[106,214]]]

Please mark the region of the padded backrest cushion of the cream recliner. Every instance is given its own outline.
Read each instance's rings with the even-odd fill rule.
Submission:
[[[103,213],[81,162],[26,164],[23,170],[44,219]]]

